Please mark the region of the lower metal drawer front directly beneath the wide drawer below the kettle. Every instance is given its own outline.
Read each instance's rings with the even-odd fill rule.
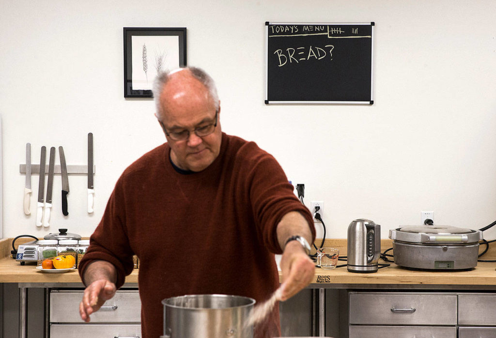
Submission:
[[[456,338],[455,327],[350,326],[349,338]]]

